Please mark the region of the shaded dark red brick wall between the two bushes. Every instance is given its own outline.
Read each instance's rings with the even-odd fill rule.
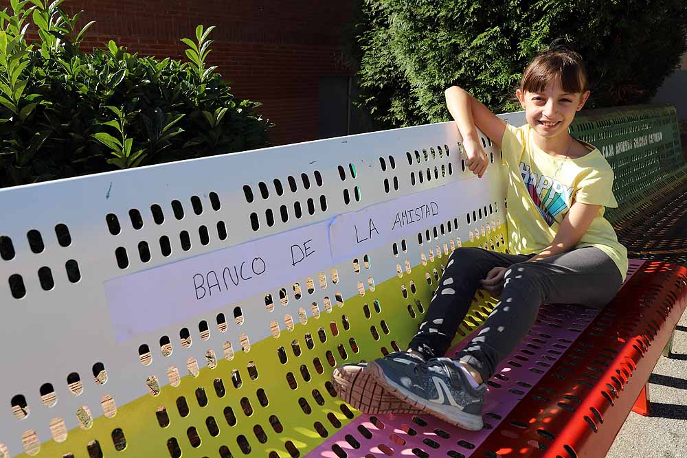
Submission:
[[[2,3],[5,3],[4,1]],[[348,76],[341,27],[350,1],[328,0],[67,0],[83,10],[89,49],[113,39],[142,55],[181,58],[181,38],[195,40],[196,25],[216,25],[210,65],[231,82],[239,98],[263,103],[276,124],[274,144],[317,139],[318,78]]]

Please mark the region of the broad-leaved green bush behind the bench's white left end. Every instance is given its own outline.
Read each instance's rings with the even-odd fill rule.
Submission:
[[[214,27],[183,38],[188,62],[113,41],[85,53],[92,22],[49,1],[0,12],[0,187],[269,146],[261,104],[207,65]]]

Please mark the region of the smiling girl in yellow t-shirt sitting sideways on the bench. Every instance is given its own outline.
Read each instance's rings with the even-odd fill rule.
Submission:
[[[408,407],[470,430],[483,426],[486,380],[527,334],[541,304],[600,308],[627,273],[627,250],[604,218],[605,207],[618,207],[613,170],[598,149],[568,133],[589,98],[581,56],[552,45],[527,67],[516,94],[527,119],[519,128],[459,87],[445,91],[467,167],[482,178],[488,165],[475,126],[501,147],[513,254],[453,251],[409,350],[335,374],[340,380],[347,370],[366,372]],[[465,350],[442,358],[480,287],[499,302]],[[362,406],[355,391],[352,404]]]

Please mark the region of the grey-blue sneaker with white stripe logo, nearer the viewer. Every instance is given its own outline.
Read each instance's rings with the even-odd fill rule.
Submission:
[[[450,358],[412,365],[379,358],[368,365],[387,391],[435,417],[470,431],[480,431],[486,385],[471,387]]]

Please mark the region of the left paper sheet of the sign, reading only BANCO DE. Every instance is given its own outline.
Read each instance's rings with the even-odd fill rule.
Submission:
[[[284,286],[330,266],[330,221],[105,282],[115,339],[126,341]]]

